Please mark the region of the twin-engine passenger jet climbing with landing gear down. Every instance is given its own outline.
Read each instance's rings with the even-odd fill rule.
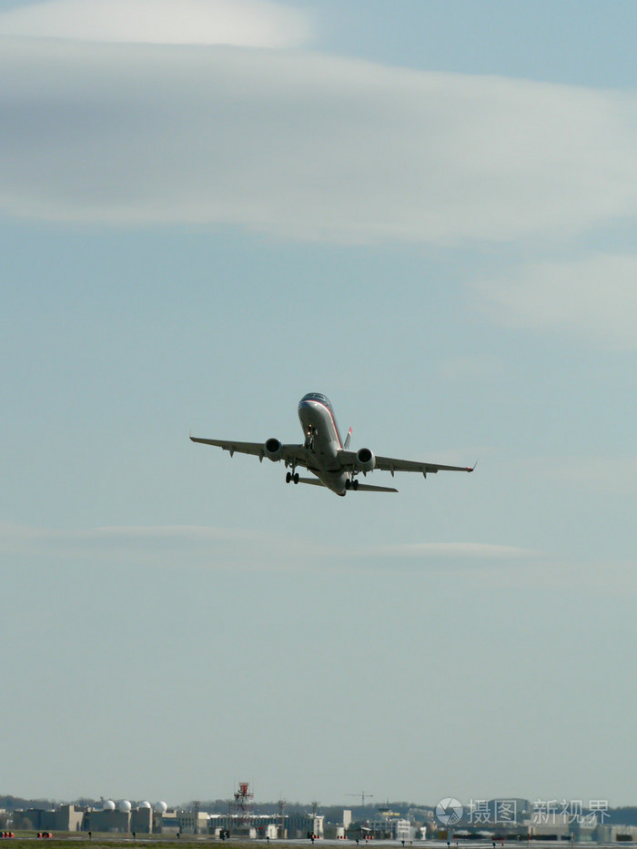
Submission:
[[[298,418],[305,435],[302,445],[287,445],[274,437],[265,442],[238,442],[237,440],[204,440],[191,436],[193,442],[205,445],[217,445],[229,451],[230,457],[235,451],[239,454],[253,454],[260,462],[267,457],[272,462],[283,460],[288,469],[287,483],[308,483],[313,486],[327,487],[337,495],[348,492],[398,492],[393,487],[371,486],[361,483],[358,475],[366,477],[375,469],[389,471],[393,478],[396,471],[420,471],[423,477],[439,471],[473,471],[473,466],[443,466],[440,463],[425,463],[420,460],[397,460],[392,457],[379,457],[369,448],[358,451],[349,450],[352,429],[349,428],[345,442],[340,439],[339,426],[336,423],[334,409],[325,395],[320,392],[308,392],[298,402]],[[297,467],[307,469],[314,478],[301,478]]]

